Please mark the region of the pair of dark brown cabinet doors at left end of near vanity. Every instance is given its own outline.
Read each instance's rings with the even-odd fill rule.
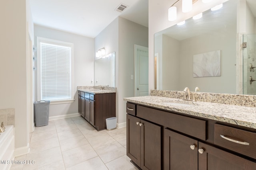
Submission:
[[[161,169],[161,127],[127,114],[127,155],[143,170]]]

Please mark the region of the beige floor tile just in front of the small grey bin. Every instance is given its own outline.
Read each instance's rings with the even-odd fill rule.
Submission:
[[[113,143],[116,140],[110,137],[108,134],[100,134],[98,136],[88,138],[87,141],[95,149]]]

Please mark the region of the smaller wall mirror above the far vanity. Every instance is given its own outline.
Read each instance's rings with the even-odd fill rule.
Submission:
[[[115,52],[95,59],[95,86],[115,87]]]

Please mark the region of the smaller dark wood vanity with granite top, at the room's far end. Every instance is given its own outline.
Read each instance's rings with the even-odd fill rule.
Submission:
[[[106,129],[106,118],[116,117],[116,92],[78,89],[78,113],[97,131]]]

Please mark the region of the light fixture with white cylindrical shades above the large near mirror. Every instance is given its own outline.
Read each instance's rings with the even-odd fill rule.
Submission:
[[[175,6],[178,2],[182,1],[182,12],[190,12],[192,10],[192,4],[198,0],[177,0],[168,9],[168,20],[174,21],[177,19],[177,7]]]

